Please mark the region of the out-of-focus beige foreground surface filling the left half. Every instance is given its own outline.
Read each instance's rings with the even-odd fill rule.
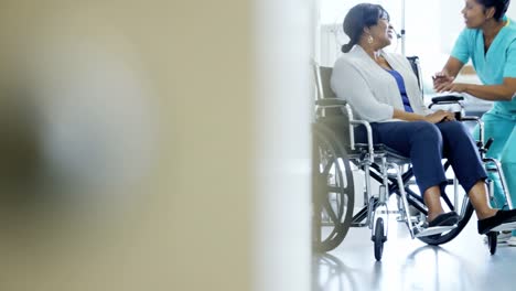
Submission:
[[[60,91],[60,84],[74,84],[67,78],[76,77],[82,82],[68,89],[77,86],[75,89],[79,91],[88,87],[89,80],[80,75],[71,76],[66,69],[75,72],[74,68],[80,71],[94,64],[88,75],[92,78],[114,67],[135,69],[144,88],[141,96],[148,106],[146,114],[120,114],[138,110],[119,109],[116,105],[125,104],[123,96],[110,93],[109,86],[108,91],[101,91],[106,87],[100,86],[100,91],[92,95],[97,94],[100,100],[106,98],[106,106],[114,105],[115,109],[97,112],[89,108],[93,115],[98,115],[88,121],[93,131],[87,132],[90,136],[77,137],[87,143],[96,141],[99,134],[107,138],[119,134],[128,144],[150,147],[144,149],[152,149],[153,154],[139,157],[142,162],[135,166],[130,163],[136,159],[135,152],[125,144],[99,146],[95,154],[122,155],[112,160],[121,165],[108,164],[111,161],[108,159],[105,166],[135,168],[128,171],[129,177],[112,177],[127,179],[129,183],[76,185],[74,180],[71,188],[77,193],[69,193],[66,187],[69,181],[57,176],[45,188],[61,190],[67,201],[65,206],[56,203],[60,200],[55,197],[43,203],[36,198],[31,202],[35,206],[17,204],[2,214],[0,290],[249,290],[254,191],[250,157],[255,139],[249,97],[252,61],[249,2],[3,0],[1,7],[0,72],[7,83],[3,88],[13,84],[31,88],[36,100],[26,103],[34,105],[36,111],[46,108],[51,114],[61,112],[60,106],[68,100],[72,105],[64,108],[87,116],[84,107],[88,104],[74,108],[75,101],[82,105],[84,99],[72,97],[77,99],[69,101],[66,99],[69,91]],[[72,45],[69,58],[58,66],[62,71],[57,69],[55,75],[52,57],[58,58],[68,48],[51,47],[37,58],[40,45],[61,44],[60,40],[77,44],[69,41],[77,36],[80,42],[95,45]],[[112,56],[116,62],[104,71],[101,57],[95,62],[83,58],[89,53],[94,58]],[[20,64],[31,67],[32,60],[47,56],[50,61],[40,65],[36,80],[20,68]],[[52,87],[49,91],[54,94],[41,95],[51,98],[52,104],[39,96],[46,87]],[[7,96],[3,93],[2,100]],[[103,106],[92,103],[93,107]],[[109,118],[111,114],[115,116]],[[64,123],[68,119],[84,121],[74,119],[76,115],[62,118],[58,120]],[[120,132],[111,125],[117,118],[127,118],[143,129],[148,126],[151,133],[138,131],[135,138],[130,130]],[[9,122],[1,126],[9,127]],[[68,123],[72,129],[73,122]],[[58,122],[53,126],[58,127]],[[80,130],[77,128],[73,133]],[[39,142],[49,137],[37,136]],[[67,142],[74,140],[65,140],[61,146],[73,148]],[[77,153],[73,150],[72,153]],[[92,152],[85,147],[84,161]],[[6,151],[0,154],[11,155]],[[98,166],[101,159],[95,161]],[[43,170],[54,169],[46,160],[40,162]],[[150,170],[138,171],[143,166]],[[94,181],[96,173],[99,172],[95,169],[87,172]],[[21,181],[26,183],[24,179]],[[41,194],[36,186],[20,191]],[[80,198],[69,200],[69,195]]]

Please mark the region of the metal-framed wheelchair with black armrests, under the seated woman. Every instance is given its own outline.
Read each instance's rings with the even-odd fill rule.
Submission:
[[[417,56],[408,57],[422,91],[422,80]],[[473,214],[473,206],[463,191],[459,191],[456,177],[449,179],[448,185],[453,186],[452,195],[441,194],[443,207],[454,211],[460,219],[454,226],[428,227],[428,208],[420,194],[410,186],[415,177],[410,159],[385,144],[374,144],[370,125],[353,117],[353,111],[343,99],[336,98],[330,86],[331,67],[322,67],[314,63],[314,75],[318,96],[315,100],[315,121],[312,123],[312,237],[313,249],[325,252],[336,248],[345,238],[350,227],[368,227],[372,230],[374,255],[381,260],[384,244],[387,241],[389,214],[399,215],[398,220],[406,224],[411,238],[428,245],[442,245],[455,238],[466,226]],[[432,99],[430,107],[453,105],[455,116],[461,121],[474,121],[480,127],[479,151],[488,172],[501,176],[506,196],[505,208],[513,208],[510,195],[505,183],[502,166],[495,159],[485,158],[485,152],[492,143],[490,139],[483,142],[483,122],[479,117],[463,115],[462,96],[441,96]],[[365,127],[367,143],[355,142],[354,128]],[[447,171],[450,162],[443,164]],[[364,205],[356,214],[355,185],[352,170],[364,172]],[[372,187],[372,179],[379,186]],[[493,198],[493,187],[487,180],[490,197]],[[448,192],[448,186],[447,186]],[[389,209],[389,198],[397,197],[397,209]],[[491,255],[496,252],[497,234],[513,229],[515,225],[502,225],[487,234]]]

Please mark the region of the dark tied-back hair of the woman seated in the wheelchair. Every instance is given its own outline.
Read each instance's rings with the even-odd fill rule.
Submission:
[[[347,53],[361,40],[365,28],[378,24],[379,19],[390,20],[389,13],[378,4],[361,3],[354,6],[347,12],[342,24],[344,33],[350,36],[350,43],[342,46],[342,52]]]

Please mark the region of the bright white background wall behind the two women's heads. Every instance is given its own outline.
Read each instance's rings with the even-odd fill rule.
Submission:
[[[323,65],[333,65],[340,55],[340,46],[347,43],[347,36],[341,30],[346,12],[363,1],[322,0],[321,2],[321,54],[318,60]],[[367,1],[381,4],[390,14],[391,23],[399,32],[401,26],[402,0]],[[424,1],[406,0],[405,28],[406,55],[418,55],[426,82],[440,71],[448,60],[456,36],[464,28],[461,10],[464,1]],[[516,19],[516,4],[512,4],[507,15]],[[335,32],[338,32],[335,35]],[[401,53],[400,41],[394,42],[389,51]]]

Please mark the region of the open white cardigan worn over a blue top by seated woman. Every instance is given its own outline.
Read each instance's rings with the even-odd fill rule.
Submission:
[[[404,77],[413,112],[423,116],[431,114],[422,101],[409,61],[402,55],[385,52],[381,52],[381,56]],[[335,62],[331,86],[337,98],[351,105],[355,118],[369,122],[400,121],[393,119],[394,108],[405,110],[396,79],[362,46],[353,46]]]

